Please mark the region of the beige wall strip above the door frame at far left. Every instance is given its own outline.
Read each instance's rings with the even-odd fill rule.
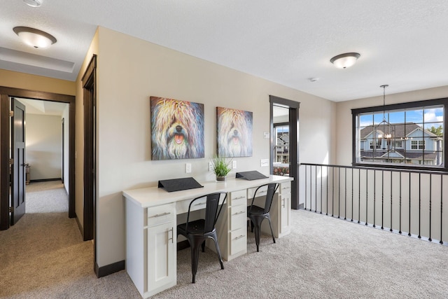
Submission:
[[[55,92],[62,95],[76,94],[76,84],[72,81],[6,71],[6,69],[0,69],[0,86]]]

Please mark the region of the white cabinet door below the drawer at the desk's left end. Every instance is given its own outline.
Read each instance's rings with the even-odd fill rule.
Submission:
[[[175,222],[148,228],[148,291],[176,284]]]

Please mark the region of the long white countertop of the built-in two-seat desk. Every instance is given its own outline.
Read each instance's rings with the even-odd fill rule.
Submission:
[[[269,176],[267,179],[258,179],[247,181],[246,179],[228,179],[227,181],[200,181],[203,188],[195,188],[190,190],[181,190],[167,192],[163,188],[150,187],[133,190],[124,190],[123,195],[138,204],[142,208],[155,207],[160,204],[169,204],[170,202],[178,202],[180,200],[193,199],[195,197],[206,195],[214,192],[232,192],[244,190],[248,188],[258,187],[265,183],[284,183],[293,181],[289,176]]]

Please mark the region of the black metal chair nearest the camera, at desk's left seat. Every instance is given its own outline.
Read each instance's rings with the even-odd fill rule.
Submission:
[[[224,195],[224,199],[220,199]],[[190,210],[197,204],[197,200],[207,197],[206,202],[204,202],[205,207],[205,217],[204,219],[199,219],[195,221],[190,221]],[[221,251],[219,250],[218,237],[216,235],[216,221],[218,220],[219,214],[221,214],[221,209],[225,199],[227,198],[227,193],[211,193],[208,195],[203,195],[196,197],[190,202],[188,207],[187,222],[177,225],[177,235],[183,235],[188,239],[191,247],[191,273],[193,274],[193,284],[196,282],[196,272],[197,272],[197,261],[199,260],[199,249],[202,246],[202,252],[205,251],[205,240],[207,238],[213,239],[216,246],[216,251],[218,253],[219,263],[221,263],[221,269],[224,269],[223,258],[221,258]],[[200,204],[203,204],[202,202]],[[218,211],[219,209],[219,211]]]

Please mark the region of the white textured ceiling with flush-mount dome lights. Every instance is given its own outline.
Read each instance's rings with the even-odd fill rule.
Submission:
[[[42,3],[2,1],[1,69],[74,81],[102,26],[335,102],[382,95],[382,84],[387,94],[448,85],[447,0]],[[57,43],[25,46],[15,26]],[[361,55],[353,67],[330,64],[346,52]]]

